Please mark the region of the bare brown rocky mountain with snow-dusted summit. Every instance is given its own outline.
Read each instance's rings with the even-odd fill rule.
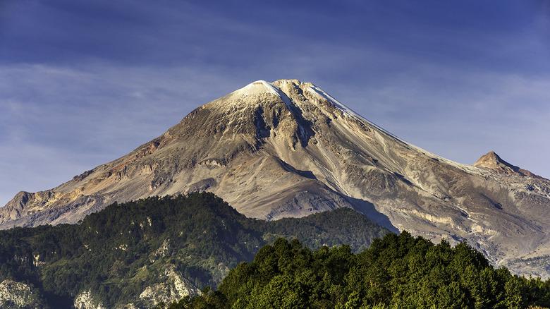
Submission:
[[[550,255],[549,180],[494,153],[475,165],[438,157],[298,80],[251,83],[124,157],[20,192],[0,209],[0,228],[78,222],[115,201],[203,190],[259,219],[351,207],[392,231],[467,240],[494,265],[550,275],[544,263],[527,267]]]

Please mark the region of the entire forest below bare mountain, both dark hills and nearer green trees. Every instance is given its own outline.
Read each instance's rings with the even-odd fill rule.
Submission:
[[[173,303],[140,298],[167,280],[166,269],[198,293]],[[115,203],[78,224],[0,231],[5,279],[32,287],[28,308],[73,308],[82,291],[104,308],[550,307],[550,281],[494,268],[468,243],[393,234],[346,208],[250,219],[212,193]]]

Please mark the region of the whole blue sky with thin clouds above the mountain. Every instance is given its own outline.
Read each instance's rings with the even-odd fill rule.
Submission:
[[[550,178],[548,0],[0,0],[0,205],[281,78],[441,157]]]

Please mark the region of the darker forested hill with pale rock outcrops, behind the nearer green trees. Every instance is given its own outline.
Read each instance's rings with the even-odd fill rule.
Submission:
[[[151,308],[140,293],[166,281],[166,269],[197,289],[215,287],[281,236],[312,250],[348,243],[359,252],[387,232],[349,209],[266,222],[246,218],[212,193],[147,198],[115,203],[79,224],[0,231],[0,282],[32,286],[36,308],[72,308],[82,291],[105,308],[130,302]]]

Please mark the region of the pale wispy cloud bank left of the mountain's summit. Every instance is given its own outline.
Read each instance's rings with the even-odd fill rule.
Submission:
[[[0,199],[116,159],[235,87],[190,68],[0,66]]]

